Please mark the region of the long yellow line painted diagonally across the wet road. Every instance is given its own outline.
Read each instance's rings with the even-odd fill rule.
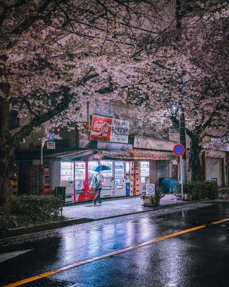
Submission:
[[[212,223],[216,224],[216,223],[224,222],[224,221],[227,221],[227,220],[229,220],[229,218],[223,219],[223,220],[220,220],[220,221],[215,221],[215,222],[212,222]],[[172,233],[172,234],[168,234],[168,235],[165,235],[165,236],[162,236],[162,237],[158,237],[156,239],[152,239],[152,240],[149,240],[149,241],[145,241],[143,243],[139,243],[139,244],[136,244],[136,245],[133,245],[133,246],[130,246],[130,247],[127,247],[127,248],[123,248],[123,249],[120,249],[120,250],[117,250],[117,251],[114,251],[114,252],[111,252],[111,253],[100,255],[100,256],[97,256],[97,257],[94,257],[94,258],[91,258],[91,259],[87,259],[87,260],[84,260],[84,261],[80,261],[80,262],[77,262],[77,263],[74,263],[74,264],[62,267],[62,268],[58,268],[58,269],[55,269],[55,270],[52,270],[52,271],[49,271],[49,272],[45,272],[45,273],[39,274],[37,276],[33,276],[33,277],[30,277],[30,278],[27,278],[27,279],[23,279],[23,280],[20,280],[20,281],[17,281],[17,282],[5,285],[3,287],[20,286],[20,285],[23,285],[25,283],[41,279],[43,277],[47,277],[47,276],[50,276],[50,275],[53,275],[53,274],[56,274],[56,273],[59,273],[59,272],[65,271],[65,270],[69,270],[69,269],[72,269],[72,268],[75,268],[75,267],[78,267],[78,266],[85,265],[85,264],[90,263],[90,262],[98,261],[98,260],[103,259],[103,258],[111,257],[111,256],[114,256],[114,255],[117,255],[117,254],[120,254],[120,253],[124,253],[124,252],[130,251],[130,250],[133,250],[133,249],[137,249],[139,247],[143,247],[143,246],[152,244],[154,242],[157,242],[157,241],[160,241],[160,240],[163,240],[163,239],[171,238],[171,237],[174,237],[174,236],[177,236],[177,235],[180,235],[180,234],[184,234],[184,233],[187,233],[187,232],[191,232],[191,231],[194,231],[194,230],[197,230],[197,229],[200,229],[200,228],[204,228],[204,227],[206,227],[206,226],[205,225],[200,225],[200,226],[197,226],[197,227],[193,227],[193,228],[189,228],[189,229],[182,230],[182,231],[179,231],[179,232],[175,232],[175,233]]]

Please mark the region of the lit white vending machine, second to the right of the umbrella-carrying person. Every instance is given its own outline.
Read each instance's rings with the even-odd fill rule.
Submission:
[[[115,161],[115,191],[114,196],[126,195],[126,176],[124,175],[124,161]]]

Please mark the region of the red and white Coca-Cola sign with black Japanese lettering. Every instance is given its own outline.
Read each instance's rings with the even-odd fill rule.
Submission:
[[[128,143],[129,121],[93,115],[90,140]]]

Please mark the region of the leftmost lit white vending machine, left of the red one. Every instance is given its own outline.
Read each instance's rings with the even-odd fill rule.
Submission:
[[[74,201],[73,162],[62,161],[60,166],[60,186],[66,187],[65,203]]]

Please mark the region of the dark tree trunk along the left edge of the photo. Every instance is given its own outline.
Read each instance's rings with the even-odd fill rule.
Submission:
[[[7,56],[1,55],[0,59],[6,61]],[[5,65],[0,66],[0,76],[5,77],[5,80],[0,82],[0,89],[3,92],[3,96],[0,96],[0,207],[3,208],[5,215],[9,215],[12,193],[10,180],[14,172],[14,148],[9,131],[10,85],[6,80]]]

